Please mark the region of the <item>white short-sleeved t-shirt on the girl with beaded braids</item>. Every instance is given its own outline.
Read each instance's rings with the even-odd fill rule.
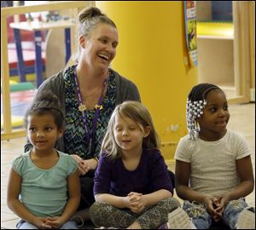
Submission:
[[[196,192],[218,195],[232,190],[240,183],[236,160],[251,154],[243,135],[230,129],[218,141],[181,138],[174,158],[191,164],[189,187]]]

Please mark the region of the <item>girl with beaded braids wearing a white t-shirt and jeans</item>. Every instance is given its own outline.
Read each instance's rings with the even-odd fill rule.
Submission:
[[[181,228],[182,222],[188,225],[189,217],[200,229],[210,228],[212,221],[255,228],[255,214],[245,201],[254,185],[251,151],[242,135],[226,128],[229,119],[228,102],[218,86],[201,83],[190,91],[189,135],[178,143],[174,157],[177,196],[184,199],[189,216],[181,209],[173,211],[172,229]]]

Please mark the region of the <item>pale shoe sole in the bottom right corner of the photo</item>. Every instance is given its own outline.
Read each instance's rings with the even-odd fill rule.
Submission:
[[[252,210],[242,210],[238,216],[236,229],[255,229],[255,213]]]

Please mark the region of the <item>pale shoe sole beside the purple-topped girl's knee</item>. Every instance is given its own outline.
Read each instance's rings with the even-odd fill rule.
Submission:
[[[180,207],[168,214],[169,229],[193,229],[193,225],[189,215]]]

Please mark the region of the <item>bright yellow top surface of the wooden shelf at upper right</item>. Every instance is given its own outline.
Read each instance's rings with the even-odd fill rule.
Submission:
[[[231,22],[197,22],[197,38],[228,39],[234,38]]]

